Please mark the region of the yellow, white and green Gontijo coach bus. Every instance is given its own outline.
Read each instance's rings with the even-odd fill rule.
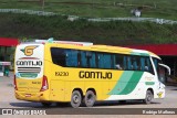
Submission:
[[[23,43],[15,49],[14,95],[43,106],[70,103],[74,108],[103,100],[150,104],[165,97],[168,72],[159,56],[143,50]]]

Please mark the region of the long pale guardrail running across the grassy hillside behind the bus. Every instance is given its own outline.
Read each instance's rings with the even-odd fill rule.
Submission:
[[[22,10],[22,9],[0,9],[0,12],[12,12],[12,13],[27,13],[37,15],[67,15],[46,11],[34,11],[34,10]],[[134,21],[134,22],[155,22],[158,24],[177,24],[177,21],[158,19],[158,18],[82,18],[76,15],[67,15],[70,21],[77,19],[86,19],[92,22],[107,22],[107,21]]]

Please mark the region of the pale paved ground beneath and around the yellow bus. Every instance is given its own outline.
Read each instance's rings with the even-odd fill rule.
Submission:
[[[144,105],[139,100],[128,100],[125,104],[118,101],[96,103],[94,108],[177,108],[177,86],[166,86],[166,97],[154,99],[150,105]],[[71,108],[69,105],[53,104],[50,109]],[[0,108],[43,108],[40,103],[22,101],[14,97],[13,75],[0,77]],[[93,110],[92,110],[93,111]],[[66,112],[63,112],[66,114]]]

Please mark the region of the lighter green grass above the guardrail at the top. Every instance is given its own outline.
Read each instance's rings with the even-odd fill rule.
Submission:
[[[142,17],[177,20],[177,0],[45,0],[44,9],[42,9],[40,0],[19,1],[0,0],[0,8],[44,10],[79,17],[121,18],[133,17],[131,14],[132,9],[147,6],[143,8]],[[123,6],[114,6],[114,3],[122,3]]]

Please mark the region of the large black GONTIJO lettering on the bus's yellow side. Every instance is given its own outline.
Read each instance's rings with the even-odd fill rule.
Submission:
[[[81,71],[79,73],[80,78],[102,78],[102,79],[111,79],[113,74],[111,72],[84,72]]]

